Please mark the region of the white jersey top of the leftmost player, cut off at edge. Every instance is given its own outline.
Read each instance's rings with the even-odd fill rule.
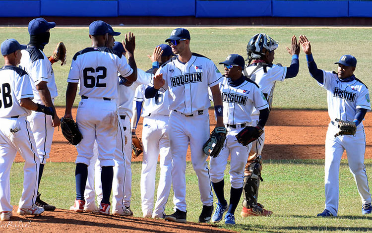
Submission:
[[[30,115],[31,111],[22,108],[18,100],[32,98],[30,78],[26,71],[6,65],[0,68],[0,117]]]

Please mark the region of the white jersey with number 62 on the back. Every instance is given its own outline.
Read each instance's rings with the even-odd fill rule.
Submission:
[[[80,82],[79,95],[93,98],[118,98],[118,71],[124,77],[133,70],[112,49],[90,47],[77,52],[71,61],[67,82]]]

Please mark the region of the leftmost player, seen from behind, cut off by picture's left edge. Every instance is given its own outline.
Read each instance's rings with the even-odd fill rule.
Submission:
[[[30,110],[55,115],[53,107],[34,103],[31,81],[20,63],[21,50],[27,46],[20,45],[14,39],[1,43],[1,55],[4,66],[0,69],[0,219],[8,221],[12,216],[10,205],[10,167],[17,151],[25,160],[23,167],[23,191],[19,200],[17,213],[20,215],[39,215],[43,207],[35,205],[38,188],[38,170],[40,159],[29,122],[26,117]]]

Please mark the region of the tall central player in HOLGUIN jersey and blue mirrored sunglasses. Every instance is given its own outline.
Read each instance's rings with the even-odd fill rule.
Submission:
[[[191,53],[190,33],[185,28],[176,28],[165,41],[176,55],[158,69],[145,97],[153,98],[159,89],[169,90],[169,140],[172,153],[172,184],[175,213],[166,220],[186,222],[186,152],[191,149],[193,169],[198,177],[200,199],[203,209],[199,222],[210,221],[213,212],[213,194],[210,184],[207,156],[203,144],[209,138],[208,87],[210,87],[217,114],[216,127],[223,125],[223,106],[218,83],[222,79],[216,65],[202,55]]]

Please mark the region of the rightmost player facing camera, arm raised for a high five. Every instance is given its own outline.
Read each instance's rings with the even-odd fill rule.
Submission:
[[[366,113],[371,111],[371,103],[367,86],[354,75],[357,59],[351,55],[344,55],[335,63],[338,64],[337,73],[324,71],[317,68],[311,54],[310,41],[305,35],[300,36],[300,43],[306,54],[311,77],[327,90],[328,115],[331,119],[325,137],[325,208],[317,216],[337,216],[338,175],[344,150],[362,199],[362,214],[371,214],[371,193],[364,164],[366,134],[362,122]],[[338,132],[336,119],[355,122],[357,125],[355,135],[336,136]]]

